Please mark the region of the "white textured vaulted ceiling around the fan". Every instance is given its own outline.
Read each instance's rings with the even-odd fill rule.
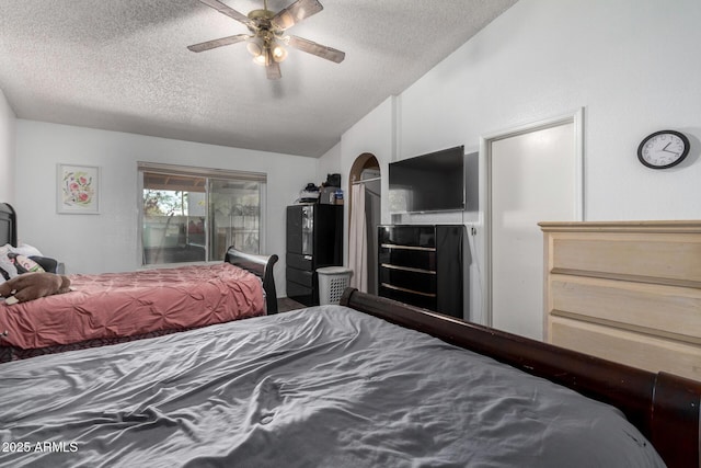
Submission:
[[[248,33],[197,0],[0,0],[0,89],[20,118],[320,157],[516,0],[321,2],[288,31],[345,60],[290,49],[271,81],[245,44],[187,50]]]

